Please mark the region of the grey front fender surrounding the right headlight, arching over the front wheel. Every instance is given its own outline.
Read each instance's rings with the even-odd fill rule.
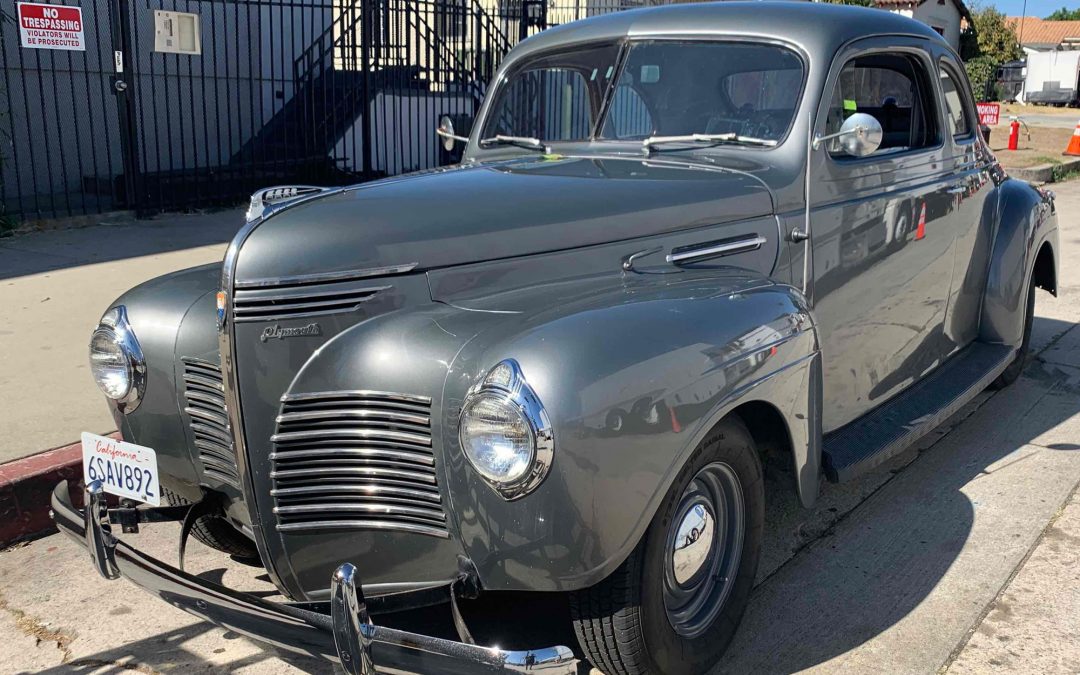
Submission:
[[[800,477],[812,474],[804,483],[816,489],[809,451],[818,447],[816,340],[791,286],[735,269],[609,275],[472,307],[486,318],[511,313],[455,359],[444,428],[457,429],[469,388],[512,357],[555,433],[548,478],[512,502],[472,471],[456,433],[443,437],[458,531],[485,588],[565,591],[607,577],[645,532],[685,459],[745,401],[770,402],[787,418]]]

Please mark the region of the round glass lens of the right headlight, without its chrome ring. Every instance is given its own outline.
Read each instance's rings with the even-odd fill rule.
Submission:
[[[485,478],[513,483],[528,473],[536,438],[522,411],[504,397],[482,394],[461,413],[461,446]]]

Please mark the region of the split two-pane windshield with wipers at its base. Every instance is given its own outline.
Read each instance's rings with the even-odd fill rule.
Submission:
[[[594,45],[514,69],[482,138],[643,141],[699,134],[779,141],[802,91],[801,59],[778,45],[650,41],[620,52],[619,44]]]

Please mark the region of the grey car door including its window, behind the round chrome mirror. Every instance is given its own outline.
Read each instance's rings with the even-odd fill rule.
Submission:
[[[953,185],[936,67],[917,38],[873,38],[833,64],[815,130],[839,131],[853,112],[882,126],[880,147],[846,156],[838,141],[811,151],[812,298],[823,366],[823,428],[887,402],[951,351],[944,319],[953,276],[945,230]]]

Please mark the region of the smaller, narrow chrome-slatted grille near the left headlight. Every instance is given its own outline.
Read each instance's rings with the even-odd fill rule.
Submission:
[[[239,490],[240,474],[225,407],[221,368],[200,359],[185,356],[180,361],[184,363],[184,411],[191,424],[203,473]]]

